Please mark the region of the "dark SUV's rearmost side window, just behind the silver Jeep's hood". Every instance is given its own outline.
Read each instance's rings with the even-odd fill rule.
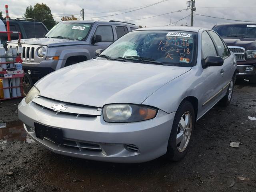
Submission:
[[[42,38],[47,32],[46,28],[40,24],[23,24],[23,28],[28,38]]]

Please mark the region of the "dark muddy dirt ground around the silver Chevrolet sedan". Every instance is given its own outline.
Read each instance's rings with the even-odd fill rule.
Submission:
[[[235,86],[232,104],[214,106],[196,124],[182,161],[164,157],[141,164],[114,164],[61,156],[26,138],[19,100],[0,103],[0,191],[256,192],[256,86]],[[4,139],[5,138],[5,139]],[[15,140],[15,141],[14,141]],[[241,142],[231,148],[230,142]],[[8,172],[13,172],[8,176]]]

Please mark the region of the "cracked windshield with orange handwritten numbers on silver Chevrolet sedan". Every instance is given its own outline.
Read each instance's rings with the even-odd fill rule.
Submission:
[[[118,58],[129,62],[194,66],[195,54],[195,32],[142,30],[122,36],[106,48],[97,59]]]

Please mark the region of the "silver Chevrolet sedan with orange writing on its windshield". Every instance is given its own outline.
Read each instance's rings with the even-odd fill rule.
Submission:
[[[100,51],[98,51],[100,52]],[[18,105],[28,135],[63,155],[138,163],[188,151],[196,120],[230,104],[236,59],[216,32],[134,30],[39,80]]]

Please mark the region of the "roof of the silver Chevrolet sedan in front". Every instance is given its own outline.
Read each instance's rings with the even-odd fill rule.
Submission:
[[[162,27],[146,27],[136,29],[138,30],[175,30],[175,31],[191,31],[191,32],[198,32],[200,29],[210,30],[207,28],[202,27],[189,27],[189,26],[162,26]],[[135,31],[135,30],[134,30]]]

